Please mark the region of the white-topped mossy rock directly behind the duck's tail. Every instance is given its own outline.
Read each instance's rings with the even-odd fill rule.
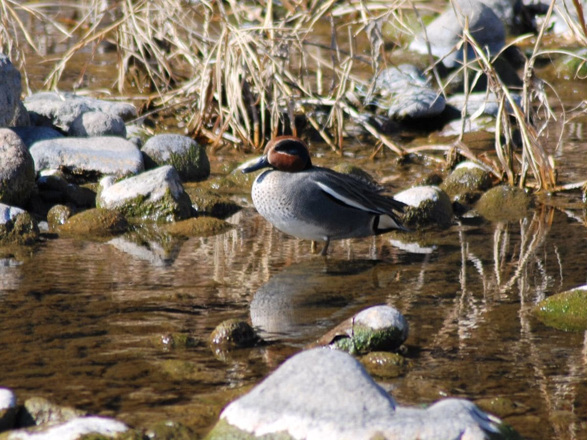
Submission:
[[[438,225],[447,228],[453,222],[450,197],[435,186],[408,188],[393,196],[409,205],[404,209],[403,222],[408,228]]]

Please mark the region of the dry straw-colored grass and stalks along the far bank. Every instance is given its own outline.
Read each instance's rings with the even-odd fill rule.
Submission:
[[[0,48],[22,66],[28,56],[43,56],[53,66],[46,78],[48,88],[57,86],[79,54],[87,66],[99,48],[109,48],[117,60],[114,89],[141,99],[143,114],[176,116],[191,136],[207,141],[212,149],[261,148],[279,132],[297,133],[294,121],[303,118],[341,152],[348,136],[345,121],[353,120],[375,138],[374,154],[382,146],[402,157],[426,155],[436,161],[444,161],[439,154],[458,153],[483,162],[495,177],[519,187],[556,191],[581,186],[583,182],[557,185],[544,147],[552,121],[564,124],[581,110],[566,111],[562,103],[552,110],[555,91],[534,75],[536,60],[546,53],[544,26],[511,43],[530,46],[518,106],[495,72],[494,60],[464,23],[461,43],[473,46],[477,57],[467,60],[456,75],[474,83],[484,73],[488,89],[500,102],[495,153],[488,156],[493,159],[481,161],[460,139],[449,146],[406,149],[361,117],[362,109],[349,93],[360,87],[369,96],[372,78],[405,48],[419,30],[421,16],[443,6],[409,0],[0,0]],[[576,38],[585,43],[585,23],[572,25]],[[45,55],[39,33],[65,43],[63,53]],[[445,93],[436,66],[428,69],[439,93]],[[84,75],[82,69],[80,83]],[[521,133],[521,150],[514,148],[514,128]]]

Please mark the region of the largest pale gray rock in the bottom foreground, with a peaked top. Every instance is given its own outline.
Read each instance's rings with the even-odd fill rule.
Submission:
[[[500,419],[465,400],[446,399],[426,409],[399,407],[349,354],[316,348],[289,358],[229,404],[208,438],[426,440],[508,434]]]

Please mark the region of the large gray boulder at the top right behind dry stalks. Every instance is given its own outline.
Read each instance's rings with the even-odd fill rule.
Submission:
[[[446,67],[456,67],[463,62],[463,49],[451,52],[461,40],[465,16],[468,17],[469,30],[481,46],[487,47],[491,56],[496,55],[505,45],[505,28],[500,18],[488,6],[478,0],[458,0],[461,12],[456,15],[453,6],[447,9],[426,26],[426,36],[430,42],[432,55],[444,57]],[[410,50],[428,53],[424,32],[420,32],[410,43]],[[473,48],[467,48],[467,59],[475,58]]]

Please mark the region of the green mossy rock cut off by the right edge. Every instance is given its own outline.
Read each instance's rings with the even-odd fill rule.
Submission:
[[[549,296],[537,304],[534,314],[555,329],[587,330],[587,286]]]

